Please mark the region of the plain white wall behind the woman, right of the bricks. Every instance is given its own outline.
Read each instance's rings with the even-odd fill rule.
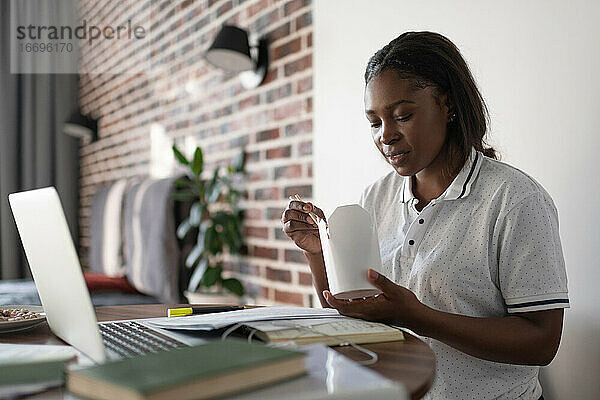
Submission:
[[[600,2],[314,2],[314,201],[330,212],[390,171],[363,113],[369,57],[400,33],[431,30],[461,49],[491,113],[490,142],[559,210],[571,309],[544,395],[599,398]]]

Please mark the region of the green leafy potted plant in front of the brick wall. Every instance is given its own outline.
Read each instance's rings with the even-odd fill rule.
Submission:
[[[238,208],[242,193],[237,186],[244,174],[244,152],[233,165],[217,166],[210,178],[205,178],[200,147],[191,160],[176,146],[173,153],[186,169],[186,176],[175,181],[175,200],[191,203],[189,215],[177,227],[177,237],[194,235],[195,243],[185,259],[185,266],[193,270],[186,297],[190,303],[239,303],[244,287],[238,279],[223,277],[222,261],[225,250],[239,254],[242,246],[242,213]]]

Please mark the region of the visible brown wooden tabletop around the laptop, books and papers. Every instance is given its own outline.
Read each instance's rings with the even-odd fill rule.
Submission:
[[[143,304],[135,306],[97,307],[98,321],[120,319],[164,317],[167,315],[164,304]],[[377,353],[379,360],[368,366],[381,375],[399,381],[406,386],[412,399],[425,395],[433,381],[435,357],[429,346],[414,337],[405,334],[404,342],[388,342],[363,345]],[[52,334],[47,324],[23,332],[0,334],[1,343],[38,343],[58,344],[60,339]],[[334,347],[335,350],[352,360],[366,359],[364,354],[351,347]]]

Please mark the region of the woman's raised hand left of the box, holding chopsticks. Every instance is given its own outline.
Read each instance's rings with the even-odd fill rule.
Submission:
[[[323,211],[312,203],[291,200],[281,216],[283,232],[302,250],[310,254],[319,254],[323,251],[319,226],[310,216],[310,212],[325,219]]]

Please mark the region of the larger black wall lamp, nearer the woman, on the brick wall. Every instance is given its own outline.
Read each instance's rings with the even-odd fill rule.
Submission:
[[[269,42],[262,37],[258,45],[251,48],[248,32],[237,26],[223,25],[205,57],[215,67],[240,73],[242,86],[252,89],[264,82],[269,71]]]

